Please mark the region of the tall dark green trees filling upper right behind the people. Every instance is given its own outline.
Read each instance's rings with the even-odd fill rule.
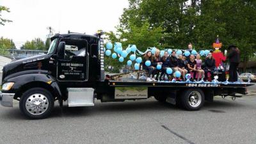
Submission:
[[[222,51],[235,44],[241,50],[242,60],[248,61],[256,51],[255,12],[256,1],[250,0],[129,0],[129,8],[125,8],[120,17],[118,31],[131,35],[125,38],[133,42],[131,38],[144,35],[130,31],[134,26],[143,28],[147,22],[152,29],[161,26],[163,38],[158,45],[175,49],[185,49],[189,42],[196,49],[213,49],[212,43],[219,35]],[[144,49],[142,42],[138,44]],[[157,44],[150,45],[153,46]]]

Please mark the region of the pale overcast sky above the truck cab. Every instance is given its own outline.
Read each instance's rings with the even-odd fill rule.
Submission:
[[[45,40],[51,26],[54,33],[93,35],[98,29],[115,31],[127,0],[0,0],[1,6],[10,8],[2,17],[12,20],[0,26],[0,37],[11,38],[16,47],[26,40]]]

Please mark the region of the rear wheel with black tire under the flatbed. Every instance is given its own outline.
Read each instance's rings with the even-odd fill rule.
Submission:
[[[198,111],[204,106],[204,92],[198,88],[185,90],[181,96],[182,107],[188,111]]]

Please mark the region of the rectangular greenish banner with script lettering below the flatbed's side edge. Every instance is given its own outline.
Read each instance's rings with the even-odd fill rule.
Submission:
[[[147,99],[147,87],[116,87],[115,99]]]

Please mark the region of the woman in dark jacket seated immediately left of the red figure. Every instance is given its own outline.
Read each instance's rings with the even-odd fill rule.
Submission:
[[[204,72],[206,81],[212,81],[213,72],[215,69],[215,60],[212,58],[212,53],[209,52],[204,61]]]

